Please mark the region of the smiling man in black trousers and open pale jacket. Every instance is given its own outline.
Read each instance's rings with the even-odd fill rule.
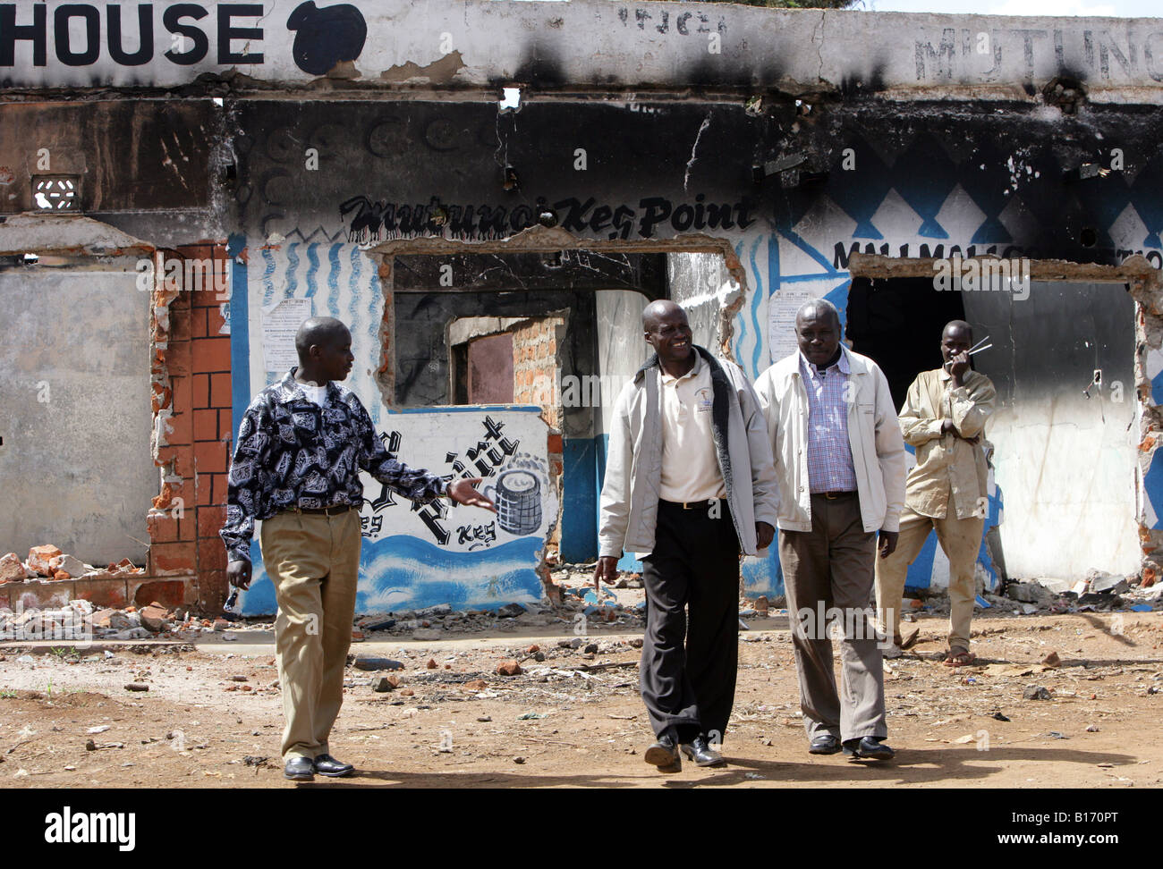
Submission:
[[[758,398],[737,365],[691,340],[686,313],[642,313],[655,356],[618,397],[601,487],[594,584],[622,552],[642,558],[647,627],[638,678],[657,741],[644,760],[723,760],[739,668],[739,556],[775,537],[775,468]],[[687,606],[690,616],[687,616]]]

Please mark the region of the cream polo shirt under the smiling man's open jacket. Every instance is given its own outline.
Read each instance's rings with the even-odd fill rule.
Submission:
[[[658,366],[662,416],[663,501],[708,501],[727,496],[711,425],[714,389],[711,366],[694,351],[694,367],[672,378]]]

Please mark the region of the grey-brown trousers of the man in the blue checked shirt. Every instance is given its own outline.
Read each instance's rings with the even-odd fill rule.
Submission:
[[[887,737],[884,670],[870,606],[876,532],[865,532],[855,493],[812,496],[812,530],[779,532],[800,709],[808,739]],[[827,622],[839,619],[841,689],[836,694]]]

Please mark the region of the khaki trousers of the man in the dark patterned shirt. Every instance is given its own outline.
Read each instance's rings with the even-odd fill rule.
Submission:
[[[276,658],[283,690],[283,759],[330,754],[359,575],[359,511],[284,510],[263,520],[259,546],[274,583]]]

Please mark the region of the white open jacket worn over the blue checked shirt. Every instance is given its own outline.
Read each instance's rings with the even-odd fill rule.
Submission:
[[[880,367],[843,344],[852,402],[848,441],[852,450],[864,531],[899,531],[905,503],[905,443],[889,381]],[[768,368],[755,383],[771,439],[779,480],[779,527],[812,530],[812,491],[807,477],[807,389],[799,351]]]

